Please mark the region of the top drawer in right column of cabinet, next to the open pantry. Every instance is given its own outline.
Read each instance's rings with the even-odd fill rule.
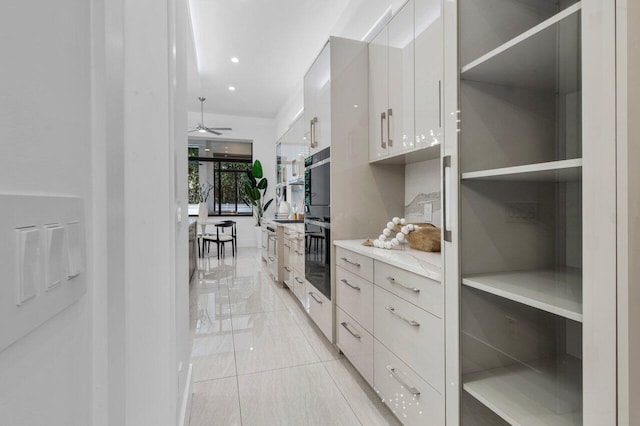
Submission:
[[[444,302],[440,282],[382,262],[375,263],[374,282],[396,296],[442,318]]]

